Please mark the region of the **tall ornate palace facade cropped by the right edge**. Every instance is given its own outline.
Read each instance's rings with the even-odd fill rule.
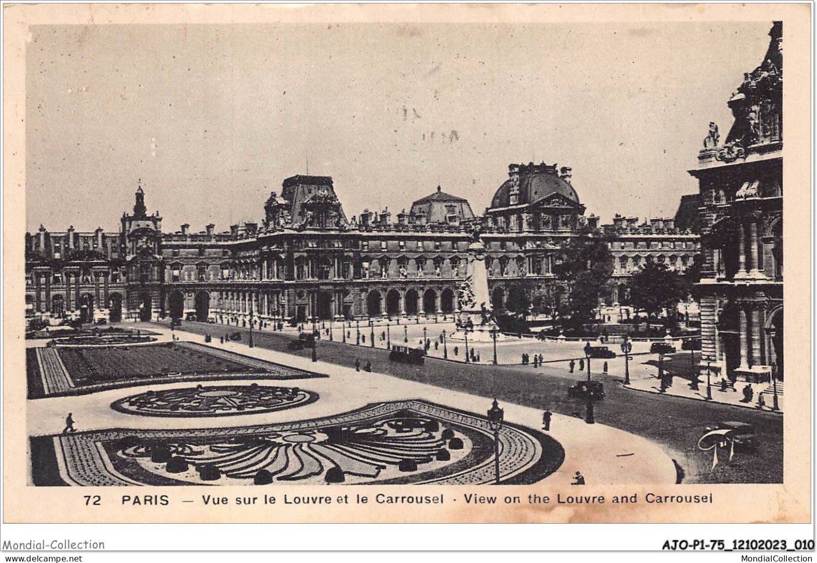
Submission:
[[[700,182],[705,373],[762,381],[783,376],[783,25],[729,101],[690,174]],[[707,367],[708,366],[708,367]]]

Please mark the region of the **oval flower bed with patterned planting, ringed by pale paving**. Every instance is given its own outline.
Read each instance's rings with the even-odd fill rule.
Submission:
[[[299,387],[222,385],[145,391],[114,401],[120,413],[152,417],[223,417],[270,413],[292,409],[318,400],[314,391]]]

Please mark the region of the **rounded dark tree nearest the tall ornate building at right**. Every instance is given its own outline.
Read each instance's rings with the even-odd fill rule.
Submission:
[[[632,275],[630,303],[636,311],[645,311],[648,318],[655,319],[667,310],[667,323],[675,318],[678,302],[686,296],[685,280],[665,264],[648,262]]]

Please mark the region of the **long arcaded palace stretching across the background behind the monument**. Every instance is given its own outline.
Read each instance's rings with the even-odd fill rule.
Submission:
[[[408,212],[346,217],[328,176],[292,176],[264,205],[264,220],[192,232],[162,230],[136,190],[117,235],[44,227],[26,235],[27,315],[47,319],[250,322],[441,318],[459,309],[467,248],[476,230],[494,311],[514,292],[552,287],[563,244],[605,232],[615,284],[605,301],[623,305],[627,279],[646,261],[684,270],[699,252],[694,226],[675,218],[599,226],[571,184],[570,168],[512,164],[491,206],[475,216],[467,199],[437,189]],[[681,209],[684,206],[681,205]]]

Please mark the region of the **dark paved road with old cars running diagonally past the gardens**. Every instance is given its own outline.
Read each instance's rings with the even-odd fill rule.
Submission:
[[[185,332],[212,335],[216,341],[222,335],[240,330],[243,342],[248,341],[248,330],[221,324],[186,322]],[[296,335],[292,332],[254,332],[256,346],[285,351],[288,342]],[[309,356],[310,350],[294,351],[292,354]],[[362,364],[372,362],[373,370],[388,373],[395,378],[410,379],[464,391],[486,399],[521,404],[536,409],[551,409],[560,414],[584,415],[583,401],[570,399],[567,388],[578,374],[565,369],[543,366],[493,366],[473,365],[427,358],[423,366],[397,364],[388,360],[385,350],[368,346],[354,346],[341,342],[320,341],[317,346],[319,360],[351,366],[355,358]],[[605,400],[596,403],[596,421],[621,430],[645,436],[670,449],[685,472],[684,482],[698,483],[780,483],[783,481],[783,417],[774,413],[761,413],[726,404],[705,403],[658,395],[642,391],[630,391],[620,385],[614,376],[596,376],[605,382]],[[486,409],[490,406],[486,401]],[[759,447],[755,454],[736,454],[732,462],[721,463],[710,471],[712,452],[697,448],[700,436],[709,423],[718,421],[741,421],[757,428]],[[722,458],[722,456],[721,456]]]

